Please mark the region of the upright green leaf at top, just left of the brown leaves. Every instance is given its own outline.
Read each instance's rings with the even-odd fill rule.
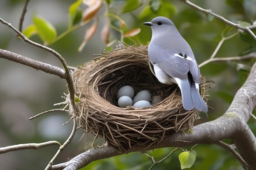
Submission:
[[[69,15],[69,23],[68,28],[70,29],[71,26],[78,23],[82,18],[82,10],[79,9],[80,4],[83,0],[77,0],[72,5],[70,5],[70,8],[68,9],[68,15]]]

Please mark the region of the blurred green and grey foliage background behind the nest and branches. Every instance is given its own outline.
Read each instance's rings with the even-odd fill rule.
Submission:
[[[56,29],[56,35],[67,31],[70,27],[68,11],[75,1],[63,0],[31,0],[23,23],[23,29],[32,24],[35,15],[45,18]],[[141,2],[143,2],[141,4]],[[255,20],[256,2],[254,0],[193,0],[195,4],[214,13],[222,15],[232,22],[252,23]],[[24,0],[2,0],[0,2],[0,17],[18,28],[20,14]],[[81,4],[81,10],[86,9]],[[92,60],[94,54],[101,54],[104,49],[110,51],[118,45],[117,40],[123,40],[129,45],[148,44],[151,38],[151,29],[143,22],[152,20],[156,16],[170,18],[180,31],[181,35],[189,42],[198,64],[207,60],[222,39],[222,35],[229,36],[236,33],[235,28],[201,13],[179,0],[107,0],[104,1],[96,16],[100,17],[97,29],[79,52],[79,46],[84,40],[85,30],[93,22],[70,31],[60,40],[50,43],[49,47],[60,53],[69,66],[78,66]],[[122,26],[121,19],[125,26]],[[110,22],[110,46],[101,40],[101,29],[105,22]],[[133,37],[123,37],[128,31],[139,28],[141,31]],[[120,33],[121,31],[121,33]],[[43,43],[37,36],[32,35],[31,40]],[[114,41],[113,41],[114,40]],[[255,52],[256,42],[249,35],[239,33],[226,40],[220,47],[216,57],[231,57],[246,55]],[[34,60],[46,62],[55,66],[61,63],[52,54],[16,38],[16,33],[7,26],[0,24],[0,48],[30,57]],[[209,117],[201,114],[202,119],[195,122],[199,124],[220,117],[229,107],[236,91],[247,78],[250,66],[254,59],[246,61],[214,62],[200,68],[207,80],[216,82],[217,86],[209,91],[212,101],[208,105],[214,110],[209,110]],[[48,140],[57,140],[63,143],[72,130],[72,124],[63,125],[69,117],[64,113],[49,113],[33,120],[29,117],[45,110],[58,108],[53,104],[62,102],[63,92],[67,90],[64,79],[36,71],[27,66],[0,59],[0,147],[22,143],[40,143]],[[255,120],[249,120],[253,132],[256,132]],[[71,144],[65,148],[56,160],[56,163],[67,161],[75,155],[92,147],[93,136],[77,130]],[[99,139],[97,142],[101,143]],[[227,140],[228,143],[232,141]],[[184,149],[190,150],[191,147]],[[0,155],[0,166],[3,170],[32,170],[44,169],[58,146],[48,146],[38,150],[20,150]],[[156,161],[162,159],[173,148],[161,148],[148,151]],[[194,148],[197,158],[191,170],[241,170],[240,163],[227,151],[216,145],[199,145]],[[153,169],[179,170],[180,163],[177,150],[164,162],[157,164]],[[109,159],[94,161],[86,166],[86,170],[147,170],[152,162],[146,155],[135,152]]]

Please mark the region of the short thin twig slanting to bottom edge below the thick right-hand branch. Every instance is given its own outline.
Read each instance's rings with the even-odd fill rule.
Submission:
[[[250,166],[244,161],[244,159],[239,155],[239,153],[236,152],[234,147],[222,141],[218,141],[215,144],[231,152],[231,154],[234,155],[238,161],[240,161],[240,163],[243,165],[243,168],[247,170],[252,170],[252,168],[250,168]]]

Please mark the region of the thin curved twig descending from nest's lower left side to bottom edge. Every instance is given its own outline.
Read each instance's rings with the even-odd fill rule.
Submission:
[[[49,161],[47,167],[45,168],[45,170],[51,170],[52,169],[52,165],[53,165],[53,162],[55,161],[55,159],[58,157],[58,155],[60,155],[61,151],[68,145],[70,144],[70,142],[72,141],[74,135],[75,135],[75,132],[76,132],[76,118],[73,116],[72,117],[73,119],[73,129],[72,129],[72,132],[70,133],[70,136],[67,138],[67,140],[64,142],[63,145],[60,146],[60,148],[58,149],[58,151],[56,152],[56,154],[54,155],[54,157],[52,157],[51,161]]]

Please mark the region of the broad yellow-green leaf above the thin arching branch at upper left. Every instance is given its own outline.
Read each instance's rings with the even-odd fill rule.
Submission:
[[[57,36],[55,27],[50,22],[37,15],[34,15],[33,22],[40,39],[43,40],[46,45],[51,44]]]

